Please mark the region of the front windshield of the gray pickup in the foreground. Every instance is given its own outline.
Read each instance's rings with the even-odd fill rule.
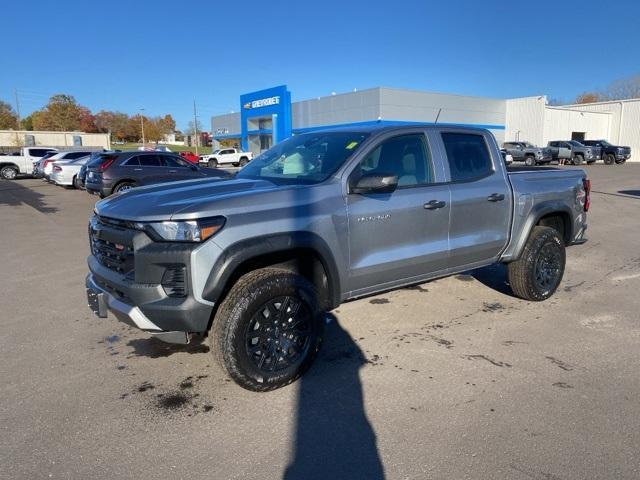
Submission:
[[[362,132],[296,135],[260,154],[237,177],[277,184],[319,183],[334,174],[368,136]]]

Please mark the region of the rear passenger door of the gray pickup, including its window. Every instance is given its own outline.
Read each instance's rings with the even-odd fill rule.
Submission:
[[[455,129],[441,130],[439,138],[451,191],[450,268],[490,263],[507,245],[512,212],[506,171],[490,148],[494,140],[488,132]]]

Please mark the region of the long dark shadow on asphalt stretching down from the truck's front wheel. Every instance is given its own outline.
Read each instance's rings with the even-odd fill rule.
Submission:
[[[295,443],[283,478],[384,479],[359,375],[370,362],[337,318],[328,319],[324,347],[299,380]]]

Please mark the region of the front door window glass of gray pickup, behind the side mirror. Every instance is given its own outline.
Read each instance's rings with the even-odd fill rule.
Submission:
[[[402,135],[383,141],[356,167],[356,177],[369,173],[398,176],[399,187],[433,182],[433,171],[425,136]]]

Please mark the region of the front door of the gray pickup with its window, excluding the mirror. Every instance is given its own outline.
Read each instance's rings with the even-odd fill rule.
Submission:
[[[348,194],[352,295],[420,280],[447,268],[449,187],[434,184],[430,149],[423,132],[382,140],[349,176],[398,176],[391,193]]]

